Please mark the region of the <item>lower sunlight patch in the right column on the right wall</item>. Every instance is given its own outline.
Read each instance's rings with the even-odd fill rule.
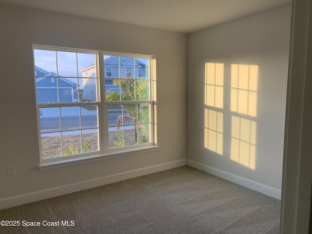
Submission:
[[[255,169],[256,122],[232,116],[231,159]]]

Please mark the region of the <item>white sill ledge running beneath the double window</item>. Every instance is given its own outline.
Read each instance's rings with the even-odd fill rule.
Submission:
[[[81,156],[81,157],[75,157],[75,158],[62,158],[56,161],[50,161],[50,162],[41,162],[39,166],[39,171],[45,171],[60,167],[67,167],[82,163],[88,163],[88,162],[94,162],[114,157],[122,157],[122,156],[128,156],[128,155],[134,155],[134,154],[141,154],[151,151],[158,150],[159,146],[152,145],[152,146],[146,146],[142,148],[136,148],[136,149],[127,149],[127,150],[120,150],[105,154],[98,154],[98,155],[92,155],[92,156]]]

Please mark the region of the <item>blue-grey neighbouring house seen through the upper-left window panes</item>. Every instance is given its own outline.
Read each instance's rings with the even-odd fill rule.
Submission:
[[[58,102],[57,74],[35,66],[37,102]],[[60,76],[59,76],[60,77]],[[77,83],[68,78],[59,78],[59,101],[78,101]]]

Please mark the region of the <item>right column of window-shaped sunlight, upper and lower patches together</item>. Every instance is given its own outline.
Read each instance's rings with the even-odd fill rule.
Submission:
[[[231,65],[231,159],[255,170],[258,65]]]

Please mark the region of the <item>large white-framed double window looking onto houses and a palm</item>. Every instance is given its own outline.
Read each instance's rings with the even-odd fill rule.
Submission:
[[[39,45],[33,49],[35,74],[41,71],[35,75],[41,162],[113,155],[154,145],[151,56],[126,58]],[[100,77],[105,62],[115,63],[116,74],[121,74],[125,59],[133,61],[133,67],[136,61],[144,63],[149,76],[113,77],[112,67],[105,67],[111,78]],[[84,71],[91,68],[94,73],[87,77]]]

